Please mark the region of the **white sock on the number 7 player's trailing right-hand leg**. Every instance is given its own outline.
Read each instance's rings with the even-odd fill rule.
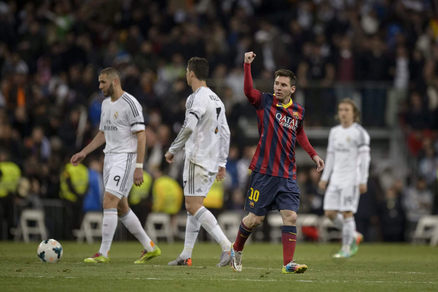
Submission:
[[[228,238],[223,234],[222,229],[218,224],[218,220],[216,220],[215,216],[208,211],[207,208],[202,206],[196,211],[193,216],[199,222],[201,222],[202,227],[219,243],[222,251],[227,252],[230,250],[231,242]]]

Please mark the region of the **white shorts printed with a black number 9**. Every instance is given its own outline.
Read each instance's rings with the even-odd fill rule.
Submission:
[[[107,153],[104,160],[105,191],[120,200],[128,197],[134,183],[137,153]]]

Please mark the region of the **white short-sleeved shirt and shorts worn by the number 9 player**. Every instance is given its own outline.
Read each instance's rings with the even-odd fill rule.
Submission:
[[[145,129],[142,106],[127,92],[115,102],[102,102],[99,130],[105,134],[105,191],[122,199],[134,182],[138,131]]]

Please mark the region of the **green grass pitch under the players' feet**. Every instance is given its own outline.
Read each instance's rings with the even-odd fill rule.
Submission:
[[[298,263],[304,274],[281,274],[281,244],[245,247],[243,271],[217,268],[220,248],[197,243],[192,267],[170,267],[183,243],[160,243],[162,256],[135,265],[142,246],[114,242],[110,264],[84,264],[100,244],[61,242],[64,255],[56,264],[42,263],[37,245],[0,242],[0,290],[6,291],[438,291],[438,248],[410,244],[361,244],[356,256],[333,261],[338,244],[299,243]]]

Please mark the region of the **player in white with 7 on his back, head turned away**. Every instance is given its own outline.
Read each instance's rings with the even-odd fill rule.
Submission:
[[[192,250],[202,226],[222,248],[218,267],[230,263],[231,242],[224,235],[215,216],[204,207],[215,179],[225,177],[225,166],[230,148],[230,129],[225,117],[225,107],[218,95],[207,87],[208,61],[193,57],[187,62],[187,84],[191,94],[185,103],[185,120],[178,136],[165,154],[168,163],[174,154],[185,146],[183,189],[187,223],[183,252],[171,266],[191,266]]]

